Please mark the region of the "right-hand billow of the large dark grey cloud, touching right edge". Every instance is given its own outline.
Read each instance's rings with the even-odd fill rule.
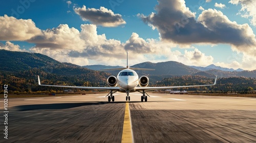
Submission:
[[[230,21],[221,11],[213,9],[203,11],[198,16],[198,21],[216,36],[208,39],[209,42],[229,43],[234,51],[256,56],[255,35],[247,23],[238,25],[237,22]]]

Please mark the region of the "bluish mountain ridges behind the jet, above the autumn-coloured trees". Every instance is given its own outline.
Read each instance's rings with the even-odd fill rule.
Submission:
[[[38,53],[26,52],[12,52],[7,50],[0,50],[0,71],[8,71],[15,73],[25,71],[33,68],[42,68],[44,71],[49,71],[51,74],[58,74],[61,76],[79,75],[84,73],[98,73],[99,69],[105,68],[118,68],[121,66],[106,66],[106,65],[87,65],[79,66],[72,63],[61,63],[46,55]],[[86,67],[86,68],[84,68]],[[153,68],[155,70],[138,70],[139,75],[148,76],[183,76],[183,75],[200,75],[205,77],[251,77],[256,78],[256,70],[243,70],[243,69],[229,69],[220,66],[209,65],[206,67],[187,66],[176,61],[167,62],[143,62],[135,64],[131,67],[139,68]],[[232,71],[233,70],[233,71]],[[49,73],[48,72],[48,73]],[[101,73],[105,73],[100,71]],[[110,70],[106,73],[117,75],[119,71]],[[109,74],[108,74],[109,75]]]

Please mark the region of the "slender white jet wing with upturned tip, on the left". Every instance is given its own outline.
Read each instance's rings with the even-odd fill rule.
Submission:
[[[42,85],[38,76],[38,85],[51,87],[66,87],[66,88],[80,88],[80,89],[95,89],[95,90],[115,90],[119,91],[120,87],[84,87],[84,86],[63,86],[63,85]]]

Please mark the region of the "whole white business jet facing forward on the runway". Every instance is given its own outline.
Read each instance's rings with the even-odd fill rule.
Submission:
[[[100,70],[121,70],[117,77],[110,76],[106,82],[109,87],[82,87],[82,86],[61,86],[61,85],[42,85],[38,76],[38,85],[41,86],[52,86],[52,87],[66,87],[66,88],[80,88],[80,89],[94,89],[94,90],[108,90],[110,91],[106,97],[108,101],[114,102],[115,97],[113,94],[117,91],[126,93],[126,101],[131,100],[129,93],[130,92],[140,92],[142,93],[141,102],[143,100],[147,102],[147,96],[150,97],[146,91],[148,90],[157,90],[157,89],[172,89],[172,88],[183,88],[183,87],[199,87],[199,86],[212,86],[216,84],[217,76],[215,78],[214,84],[210,85],[190,85],[190,86],[166,86],[166,87],[148,87],[149,79],[146,76],[141,76],[139,78],[138,74],[134,70],[155,70],[149,68],[135,68],[128,66],[128,52],[127,52],[127,66],[121,68],[108,68]],[[139,85],[139,86],[138,86]]]

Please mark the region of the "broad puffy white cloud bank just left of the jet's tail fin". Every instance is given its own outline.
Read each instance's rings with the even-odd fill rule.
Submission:
[[[61,62],[86,65],[89,61],[98,61],[108,64],[115,63],[120,58],[118,55],[125,53],[119,40],[98,35],[95,25],[81,25],[81,31],[59,25],[42,33],[29,41],[36,44],[30,51]]]

